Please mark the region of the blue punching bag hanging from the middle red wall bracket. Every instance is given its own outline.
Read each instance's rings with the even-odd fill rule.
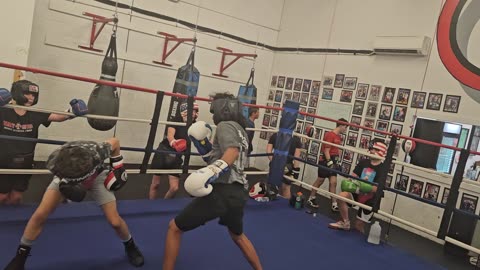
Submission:
[[[173,93],[184,94],[188,96],[197,96],[198,82],[200,81],[200,72],[195,67],[195,47],[188,57],[187,64],[177,71]],[[175,121],[180,115],[180,104],[187,102],[184,98],[172,97],[168,113],[168,121]],[[166,132],[166,130],[165,130]]]

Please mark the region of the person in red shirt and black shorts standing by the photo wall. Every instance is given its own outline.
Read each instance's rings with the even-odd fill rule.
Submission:
[[[338,121],[348,123],[348,121],[345,120],[344,118],[340,118],[338,119]],[[334,128],[332,131],[326,132],[323,137],[323,140],[325,142],[341,145],[342,137],[340,137],[340,134],[345,133],[348,128],[348,126],[344,123],[337,122],[337,127]],[[320,158],[318,160],[318,165],[322,167],[318,167],[318,177],[315,183],[313,183],[314,187],[316,188],[320,187],[323,184],[323,181],[325,181],[325,178],[328,178],[328,181],[330,182],[328,190],[331,193],[336,193],[337,174],[330,170],[326,170],[323,167],[327,167],[332,170],[340,170],[339,164],[338,164],[340,161],[339,156],[340,156],[340,151],[338,147],[332,146],[330,144],[325,144],[325,143],[322,144]],[[316,194],[317,194],[317,191],[312,189],[310,197],[308,198],[308,201],[307,201],[307,205],[315,209],[318,208],[318,204],[315,200]],[[337,199],[335,198],[332,198],[332,211],[338,212]]]

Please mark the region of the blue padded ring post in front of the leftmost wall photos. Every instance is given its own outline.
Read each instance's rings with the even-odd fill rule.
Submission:
[[[285,164],[287,163],[288,150],[292,143],[293,130],[297,125],[297,115],[300,103],[287,100],[282,111],[277,140],[273,146],[273,159],[270,162],[268,183],[281,186]]]

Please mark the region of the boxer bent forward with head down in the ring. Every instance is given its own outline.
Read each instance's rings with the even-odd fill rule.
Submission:
[[[105,159],[110,159],[109,164],[104,163]],[[23,270],[32,245],[42,232],[48,216],[65,198],[80,202],[87,193],[90,193],[102,208],[108,223],[123,242],[130,263],[137,267],[142,266],[143,255],[133,241],[127,224],[117,211],[114,191],[122,188],[127,182],[118,139],[110,138],[103,143],[68,142],[50,154],[47,168],[53,173],[53,180],[27,223],[15,257],[5,269]],[[88,228],[85,233],[88,237]],[[85,244],[91,244],[92,240],[86,238],[85,241]]]

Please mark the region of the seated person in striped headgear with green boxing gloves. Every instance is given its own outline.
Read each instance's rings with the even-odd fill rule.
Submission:
[[[379,158],[383,158],[385,157],[387,146],[382,140],[375,138],[372,140],[372,144],[368,150],[370,154],[376,155]],[[383,166],[384,164],[381,159],[362,159],[358,162],[357,166],[355,166],[352,175],[369,182],[378,183],[377,172],[383,169]],[[346,179],[342,181],[341,187],[342,192],[340,192],[340,196],[373,207],[377,186],[369,185],[358,180],[352,181],[350,179]],[[330,223],[328,226],[329,228],[347,231],[350,230],[350,219],[348,217],[349,206],[351,205],[347,204],[347,202],[338,200],[338,207],[342,219],[338,222]],[[372,211],[367,211],[363,208],[360,208],[357,213],[355,228],[364,233],[365,223],[370,223],[372,216]]]

